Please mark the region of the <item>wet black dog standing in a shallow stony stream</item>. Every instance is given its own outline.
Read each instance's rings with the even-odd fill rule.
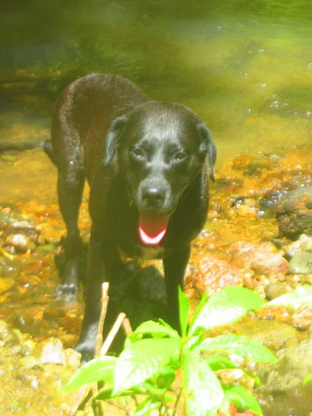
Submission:
[[[205,123],[183,105],[149,101],[129,80],[93,73],[60,94],[44,150],[58,166],[67,226],[61,293],[78,290],[85,178],[91,187],[87,298],[77,345],[83,361],[94,356],[101,284],[110,281],[120,252],[163,259],[171,323],[178,327],[177,287],[207,218],[207,157],[214,180],[216,147]]]

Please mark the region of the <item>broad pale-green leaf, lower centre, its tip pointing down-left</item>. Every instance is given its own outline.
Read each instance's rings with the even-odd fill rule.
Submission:
[[[128,345],[116,363],[114,394],[161,372],[180,347],[180,338],[146,338]]]

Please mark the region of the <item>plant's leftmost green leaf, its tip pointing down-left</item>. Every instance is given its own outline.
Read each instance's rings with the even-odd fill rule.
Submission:
[[[112,383],[116,362],[117,358],[112,356],[94,358],[94,360],[83,365],[76,374],[73,374],[69,382],[62,387],[62,390],[67,392],[84,384],[100,380]]]

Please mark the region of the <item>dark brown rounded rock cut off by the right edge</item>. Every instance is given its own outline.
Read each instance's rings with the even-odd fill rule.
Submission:
[[[312,187],[288,191],[277,207],[277,221],[281,236],[312,236]]]

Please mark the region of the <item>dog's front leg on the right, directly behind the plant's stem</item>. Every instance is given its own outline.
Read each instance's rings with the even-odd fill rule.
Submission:
[[[183,287],[183,279],[191,254],[191,244],[181,250],[173,250],[164,257],[164,276],[168,299],[169,323],[180,332],[177,288]]]

